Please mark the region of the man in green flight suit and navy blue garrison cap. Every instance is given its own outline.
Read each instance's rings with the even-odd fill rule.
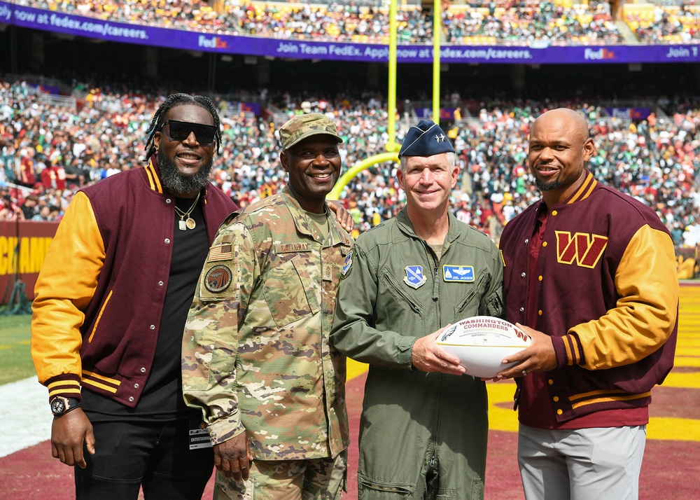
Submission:
[[[503,315],[503,261],[456,220],[454,148],[421,120],[399,152],[407,204],[358,237],[343,267],[331,341],[370,364],[360,419],[360,499],[482,499],[482,380],[435,343],[444,327]]]

